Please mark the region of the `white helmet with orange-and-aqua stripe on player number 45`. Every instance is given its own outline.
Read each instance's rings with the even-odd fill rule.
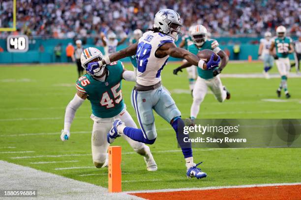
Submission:
[[[83,50],[81,54],[81,63],[82,67],[86,70],[88,67],[88,63],[91,61],[97,62],[103,60],[103,54],[100,50],[94,48],[94,47],[88,47],[87,49]],[[97,69],[93,69],[94,74],[93,75],[102,75],[103,69],[105,65],[98,67]],[[88,74],[90,74],[87,71]],[[91,75],[91,74],[90,74]]]

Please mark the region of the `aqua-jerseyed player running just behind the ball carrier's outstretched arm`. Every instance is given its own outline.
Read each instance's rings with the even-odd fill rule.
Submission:
[[[191,38],[193,44],[188,46],[189,52],[196,55],[200,50],[213,50],[221,58],[220,67],[215,67],[213,71],[207,71],[198,68],[198,78],[194,85],[192,93],[193,103],[190,108],[190,119],[193,122],[199,113],[200,104],[207,94],[208,87],[211,89],[215,98],[219,102],[223,102],[225,99],[230,99],[230,93],[226,90],[225,86],[222,85],[219,77],[219,74],[228,63],[229,57],[227,54],[219,48],[216,40],[207,39],[207,29],[203,25],[196,25],[194,27],[194,29],[191,31]],[[191,64],[186,62],[181,65],[181,67],[175,69],[174,74],[177,75],[179,71],[182,72],[183,68],[190,66]]]

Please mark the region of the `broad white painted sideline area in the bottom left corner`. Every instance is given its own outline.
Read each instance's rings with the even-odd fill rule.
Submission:
[[[143,200],[124,193],[108,193],[107,188],[2,160],[0,179],[0,188],[3,190],[37,190],[37,198],[31,198],[34,200]]]

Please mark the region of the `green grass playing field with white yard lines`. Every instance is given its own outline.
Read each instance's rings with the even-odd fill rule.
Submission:
[[[162,82],[171,91],[182,117],[187,118],[192,98],[189,92],[177,92],[188,91],[186,72],[172,75],[178,65],[170,63],[164,68]],[[125,66],[132,69],[129,64]],[[107,187],[107,169],[94,168],[90,155],[92,120],[88,100],[76,113],[70,140],[60,140],[64,109],[76,92],[75,65],[1,66],[0,69],[0,160]],[[262,63],[230,63],[223,74],[261,71]],[[276,73],[275,68],[272,73]],[[280,78],[222,78],[222,82],[231,92],[231,100],[219,103],[208,94],[199,118],[301,118],[301,78],[289,78],[292,98],[281,97],[282,102],[263,100],[277,99],[275,91]],[[130,104],[133,85],[123,81],[122,93],[129,113],[137,122]],[[124,140],[114,144],[121,145],[124,153],[121,164],[124,191],[301,180],[300,149],[194,149],[194,160],[204,161],[201,168],[208,177],[189,180],[174,130],[156,114],[155,123],[158,137],[150,147],[157,172],[148,172],[143,158],[132,153]],[[37,163],[50,161],[60,163]],[[71,167],[86,168],[60,169]]]

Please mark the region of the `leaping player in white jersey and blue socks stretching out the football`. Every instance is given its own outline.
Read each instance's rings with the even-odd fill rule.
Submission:
[[[181,34],[181,26],[181,18],[177,12],[171,9],[160,10],[155,15],[153,28],[145,32],[138,43],[106,55],[102,61],[88,65],[100,67],[136,54],[138,72],[131,100],[141,129],[125,126],[123,122],[116,120],[107,135],[108,142],[113,143],[117,137],[124,134],[135,141],[153,144],[157,137],[152,113],[154,110],[176,131],[178,144],[186,162],[187,177],[204,178],[207,174],[197,168],[201,163],[196,165],[193,162],[191,143],[183,140],[187,137],[183,133],[185,124],[175,101],[161,85],[161,71],[169,56],[186,59],[192,65],[204,70],[211,70],[218,66],[220,57],[218,56],[218,59],[214,61],[214,54],[212,54],[211,59],[206,63],[195,54],[177,48],[175,40]]]

